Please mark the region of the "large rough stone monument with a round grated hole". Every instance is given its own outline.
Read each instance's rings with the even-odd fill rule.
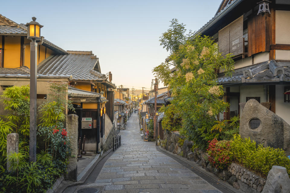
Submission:
[[[290,125],[255,99],[249,100],[243,109],[240,136],[250,137],[264,147],[282,148],[290,155]]]

